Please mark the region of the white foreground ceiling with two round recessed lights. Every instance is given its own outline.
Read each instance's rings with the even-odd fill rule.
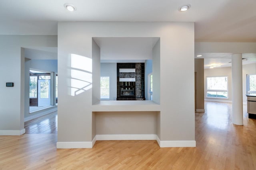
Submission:
[[[256,42],[256,0],[0,0],[0,34],[57,35],[57,21],[189,21],[195,40]],[[65,3],[77,10],[69,12]],[[179,12],[183,4],[191,4]]]

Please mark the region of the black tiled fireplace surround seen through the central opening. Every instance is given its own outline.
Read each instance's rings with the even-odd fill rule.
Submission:
[[[145,100],[145,78],[144,78],[144,63],[117,63],[117,98],[116,100]],[[135,68],[135,95],[134,96],[121,96],[121,85],[124,82],[119,82],[119,68]],[[127,82],[126,84],[129,84]]]

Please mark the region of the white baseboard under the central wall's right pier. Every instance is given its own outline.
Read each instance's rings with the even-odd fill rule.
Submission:
[[[160,147],[196,147],[196,141],[160,141]]]

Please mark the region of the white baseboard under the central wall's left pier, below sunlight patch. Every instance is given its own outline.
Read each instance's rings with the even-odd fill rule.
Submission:
[[[57,149],[92,148],[92,142],[57,142]]]

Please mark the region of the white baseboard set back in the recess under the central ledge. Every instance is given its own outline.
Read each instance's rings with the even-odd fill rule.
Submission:
[[[97,141],[156,140],[155,134],[96,135]]]

